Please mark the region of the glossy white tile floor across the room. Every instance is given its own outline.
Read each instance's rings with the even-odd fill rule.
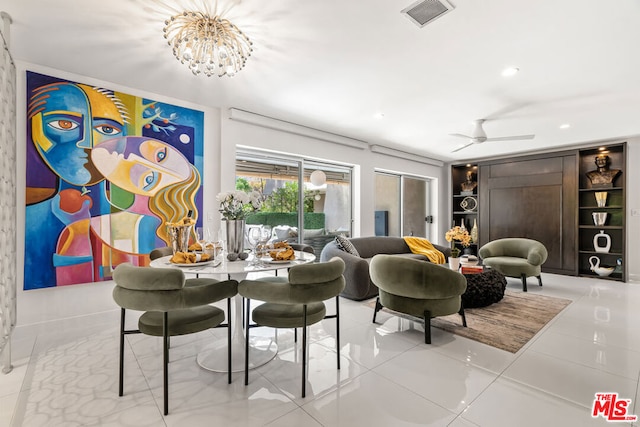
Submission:
[[[0,374],[2,426],[590,426],[596,392],[617,392],[640,414],[640,285],[543,275],[530,293],[573,303],[516,354],[341,300],[335,323],[311,328],[307,397],[299,348],[279,331],[276,359],[243,374],[202,370],[197,352],[223,330],[172,339],[169,415],[162,415],[160,339],[129,335],[118,397],[119,311],[18,327],[14,370]],[[508,288],[520,291],[520,282]],[[133,316],[130,316],[133,317]],[[135,325],[135,319],[132,326]],[[262,334],[272,331],[260,328]],[[258,329],[252,332],[258,332]],[[614,425],[640,426],[640,422]]]

